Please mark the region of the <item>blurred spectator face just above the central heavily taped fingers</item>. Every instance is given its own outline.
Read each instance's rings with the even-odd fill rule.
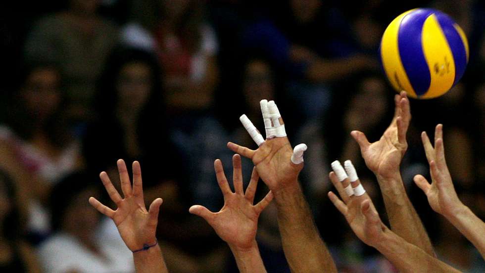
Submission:
[[[244,97],[253,113],[260,111],[261,99],[272,100],[274,97],[273,75],[269,65],[263,61],[255,60],[246,66],[244,76]]]

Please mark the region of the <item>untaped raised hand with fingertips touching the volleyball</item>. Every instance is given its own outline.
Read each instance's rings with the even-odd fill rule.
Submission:
[[[362,157],[367,167],[376,176],[390,178],[399,172],[399,165],[407,149],[406,132],[411,120],[409,99],[401,91],[394,97],[394,117],[382,137],[373,143],[364,133],[352,131],[351,135],[360,146]]]

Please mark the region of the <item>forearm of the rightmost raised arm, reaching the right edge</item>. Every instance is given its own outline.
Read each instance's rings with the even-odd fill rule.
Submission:
[[[485,259],[485,223],[465,205],[456,214],[445,217],[472,242]]]

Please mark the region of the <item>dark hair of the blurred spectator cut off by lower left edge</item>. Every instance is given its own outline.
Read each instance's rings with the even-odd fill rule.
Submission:
[[[3,170],[0,169],[0,183],[5,190],[5,196],[9,199],[12,204],[10,212],[3,219],[2,225],[2,236],[3,238],[9,240],[10,242],[16,241],[24,235],[25,223],[23,217],[21,217],[19,209],[19,197],[17,194],[17,189],[12,178]]]

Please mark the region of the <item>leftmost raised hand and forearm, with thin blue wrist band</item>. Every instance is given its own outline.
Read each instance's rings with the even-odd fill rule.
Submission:
[[[109,197],[117,206],[116,210],[101,204],[94,197],[89,198],[89,203],[100,213],[111,218],[126,246],[131,251],[137,251],[143,249],[145,245],[151,246],[157,243],[155,230],[162,199],[153,200],[147,211],[143,198],[140,163],[138,161],[133,162],[133,185],[130,182],[125,162],[120,159],[117,165],[123,198],[105,172],[99,175]],[[158,244],[146,250],[134,252],[133,259],[137,273],[168,273]]]

